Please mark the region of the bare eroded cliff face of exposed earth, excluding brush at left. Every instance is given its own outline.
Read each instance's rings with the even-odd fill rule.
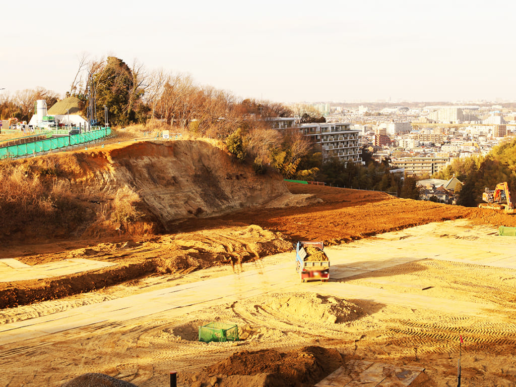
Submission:
[[[115,193],[127,185],[163,224],[296,201],[279,174],[256,175],[250,165],[206,141],[125,143],[46,159],[59,164],[73,191]]]

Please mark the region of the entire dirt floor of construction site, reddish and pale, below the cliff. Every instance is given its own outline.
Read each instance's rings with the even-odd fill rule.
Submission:
[[[85,373],[163,386],[171,371],[180,386],[285,385],[267,374],[309,386],[351,360],[455,386],[460,335],[463,386],[516,385],[516,240],[497,235],[516,216],[288,188],[323,202],[192,219],[167,235],[2,246],[0,300],[20,306],[0,311],[0,386]],[[329,282],[300,283],[298,239],[327,242]],[[209,322],[237,324],[240,340],[199,342]]]

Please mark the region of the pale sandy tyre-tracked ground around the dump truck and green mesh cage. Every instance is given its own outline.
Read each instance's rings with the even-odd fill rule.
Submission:
[[[241,272],[154,276],[5,309],[0,385],[60,385],[86,372],[166,385],[171,370],[192,385],[233,352],[317,345],[348,359],[424,367],[418,385],[451,386],[462,335],[462,385],[513,386],[513,245],[493,226],[432,223],[330,247],[328,283],[301,284],[290,252]],[[66,310],[49,314],[59,305]],[[238,324],[242,340],[197,342],[198,327],[211,321]]]

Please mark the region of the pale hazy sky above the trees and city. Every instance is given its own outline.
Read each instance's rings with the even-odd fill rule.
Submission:
[[[509,1],[5,3],[0,93],[64,94],[86,53],[186,72],[242,98],[516,100]]]

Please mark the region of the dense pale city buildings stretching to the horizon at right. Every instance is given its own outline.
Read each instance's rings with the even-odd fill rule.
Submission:
[[[430,176],[455,158],[486,155],[516,132],[516,111],[502,105],[323,106],[327,122],[358,131],[359,146],[408,175]]]

